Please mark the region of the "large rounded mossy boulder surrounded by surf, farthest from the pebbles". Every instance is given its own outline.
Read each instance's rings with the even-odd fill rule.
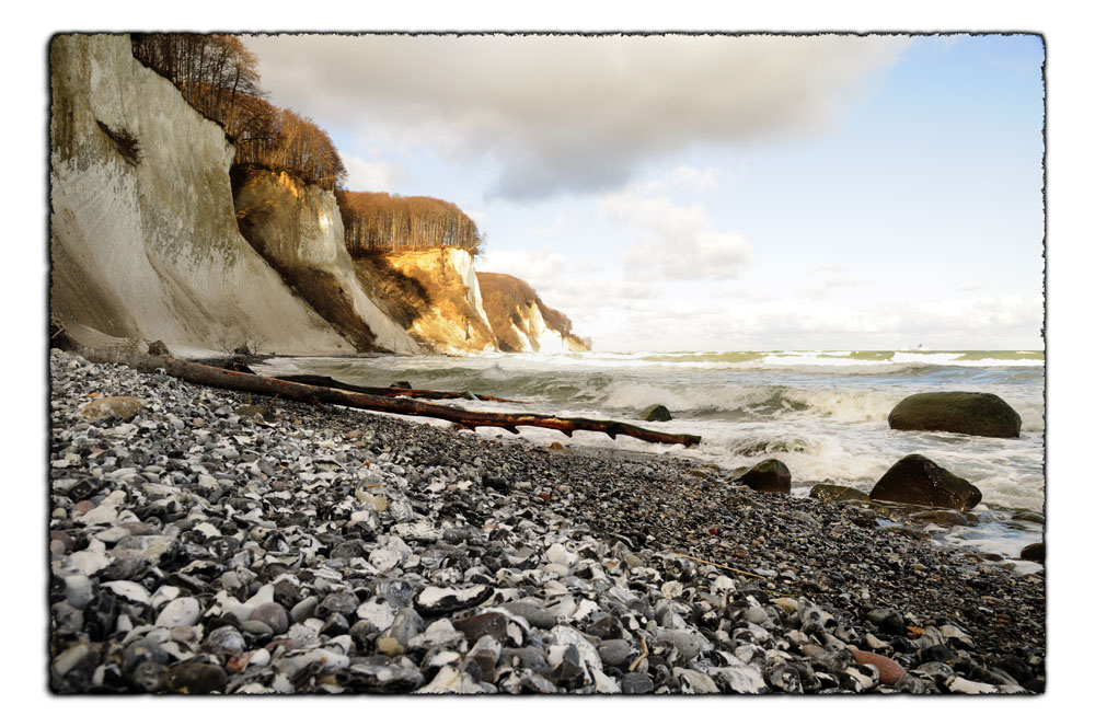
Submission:
[[[890,429],[1018,437],[1023,420],[995,394],[944,391],[913,394],[889,413]]]

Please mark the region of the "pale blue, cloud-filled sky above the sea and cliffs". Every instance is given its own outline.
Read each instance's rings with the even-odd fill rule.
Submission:
[[[249,45],[599,350],[1042,347],[1038,36]]]

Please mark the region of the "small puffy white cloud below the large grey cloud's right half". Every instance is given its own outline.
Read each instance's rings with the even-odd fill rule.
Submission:
[[[632,279],[736,278],[749,264],[746,239],[712,229],[703,205],[682,207],[632,188],[604,196],[600,206],[606,218],[637,238],[626,257]]]

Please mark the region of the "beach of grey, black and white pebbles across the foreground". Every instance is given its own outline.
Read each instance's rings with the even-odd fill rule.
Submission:
[[[1045,690],[1044,573],[899,509],[49,366],[54,693]]]

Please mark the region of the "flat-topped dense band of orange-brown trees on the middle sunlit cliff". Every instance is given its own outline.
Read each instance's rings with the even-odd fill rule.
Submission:
[[[335,196],[351,255],[431,247],[462,247],[474,255],[483,244],[475,222],[443,199],[344,189]]]

